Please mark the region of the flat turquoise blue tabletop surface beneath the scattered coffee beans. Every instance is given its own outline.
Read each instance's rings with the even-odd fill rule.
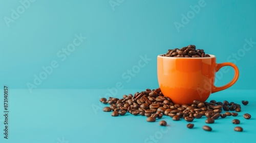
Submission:
[[[122,89],[115,97],[143,90]],[[33,93],[27,89],[9,89],[8,139],[3,134],[5,119],[4,107],[1,107],[0,142],[255,142],[256,90],[224,90],[211,94],[208,102],[249,101],[247,106],[241,104],[238,116],[219,118],[214,124],[208,124],[211,132],[202,129],[206,125],[205,116],[193,121],[193,129],[186,127],[188,122],[183,118],[173,121],[163,116],[149,123],[145,116],[130,113],[112,117],[111,112],[102,111],[108,105],[99,102],[106,93],[106,89],[34,89]],[[0,98],[1,106],[3,101],[4,97]],[[246,120],[244,113],[252,117]],[[241,121],[240,125],[231,123],[235,118]],[[161,120],[168,126],[159,126]],[[244,131],[234,131],[236,126]]]

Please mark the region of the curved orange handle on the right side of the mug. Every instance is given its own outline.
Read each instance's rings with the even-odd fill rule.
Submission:
[[[231,66],[234,68],[234,77],[233,79],[226,85],[224,86],[221,86],[221,87],[216,87],[215,85],[213,86],[213,89],[211,91],[211,93],[214,93],[214,92],[218,92],[218,91],[221,91],[221,90],[224,90],[224,89],[227,89],[228,87],[232,86],[234,83],[237,82],[238,80],[238,77],[239,77],[239,70],[238,70],[238,67],[233,64],[233,63],[230,63],[230,62],[225,62],[225,63],[219,63],[219,64],[216,64],[216,71],[219,71],[219,69],[223,66]]]

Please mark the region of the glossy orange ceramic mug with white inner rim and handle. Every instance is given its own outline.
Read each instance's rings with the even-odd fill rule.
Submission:
[[[234,68],[234,77],[226,85],[216,87],[215,73],[223,66]],[[216,63],[216,56],[204,58],[157,57],[158,84],[164,96],[175,104],[205,102],[211,93],[232,86],[239,77],[238,67],[230,62]]]

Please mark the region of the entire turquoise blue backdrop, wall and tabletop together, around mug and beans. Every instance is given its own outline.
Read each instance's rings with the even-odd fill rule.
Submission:
[[[112,7],[110,2],[117,5]],[[239,67],[237,83],[212,94],[207,101],[241,104],[248,100],[236,117],[244,131],[233,131],[236,125],[231,123],[235,118],[232,116],[216,120],[210,125],[212,132],[201,129],[205,117],[194,120],[195,128],[190,130],[183,119],[174,122],[164,116],[162,120],[167,121],[170,130],[158,142],[187,142],[184,137],[198,135],[202,135],[198,142],[216,142],[216,138],[230,143],[253,141],[256,44],[247,51],[243,46],[246,39],[256,42],[256,1],[205,0],[205,6],[182,23],[182,15],[191,13],[191,7],[198,3],[199,0],[37,0],[8,23],[6,18],[12,18],[13,11],[23,5],[0,0],[0,142],[120,142],[122,137],[122,142],[146,142],[165,128],[158,125],[159,120],[148,123],[144,116],[129,113],[112,117],[111,113],[102,112],[108,105],[99,103],[99,99],[157,88],[157,55],[189,44],[216,55],[218,63],[233,62]],[[177,29],[175,22],[184,26]],[[80,33],[87,39],[61,61],[57,53],[67,49],[75,34]],[[240,56],[236,59],[233,54]],[[136,69],[145,56],[151,60],[129,80],[127,72]],[[53,61],[58,67],[29,91],[27,84],[34,84],[34,75],[44,73],[42,66],[50,66]],[[222,69],[216,85],[228,83],[233,74],[231,67]],[[122,89],[115,90],[117,84]],[[9,87],[8,140],[3,135],[4,85]],[[244,113],[250,113],[251,119],[245,120]]]

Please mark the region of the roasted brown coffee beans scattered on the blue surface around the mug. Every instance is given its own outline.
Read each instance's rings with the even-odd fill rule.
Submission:
[[[193,101],[191,105],[174,104],[168,97],[163,96],[160,88],[146,89],[145,91],[136,92],[134,95],[124,95],[122,99],[112,98],[109,100],[101,98],[100,102],[109,104],[110,107],[104,107],[104,112],[111,112],[112,116],[124,115],[127,112],[133,115],[146,116],[147,122],[156,122],[157,118],[162,118],[163,115],[169,116],[173,121],[179,121],[184,118],[187,122],[193,122],[194,118],[201,118],[205,116],[206,124],[214,124],[218,118],[225,118],[226,116],[237,116],[241,112],[241,105],[234,102],[217,102],[211,100],[210,102]],[[243,105],[247,105],[248,101],[242,101]],[[222,113],[222,111],[226,111]],[[230,112],[229,112],[230,111]],[[244,118],[249,119],[251,115],[245,113]],[[232,121],[233,124],[240,124],[238,119]],[[159,123],[161,126],[166,126],[165,121]],[[188,124],[187,128],[193,128],[194,124]],[[211,127],[203,126],[206,131],[211,131]],[[243,131],[241,127],[234,128],[235,131]]]

